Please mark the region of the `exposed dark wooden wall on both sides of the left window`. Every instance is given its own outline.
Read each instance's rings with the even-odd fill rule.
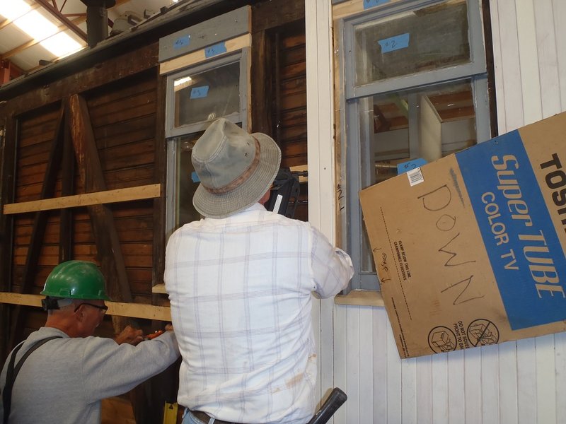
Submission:
[[[253,6],[252,15],[254,40],[261,40],[253,48],[252,78],[260,81],[253,86],[253,107],[261,102],[269,103],[265,108],[255,107],[264,114],[253,117],[253,129],[277,139],[282,147],[283,166],[306,165],[304,4],[300,0],[258,3]],[[3,203],[40,199],[60,109],[74,93],[86,99],[106,188],[161,182],[165,192],[164,79],[158,77],[157,48],[154,43],[125,52],[123,57],[25,93],[8,102],[7,107],[4,105],[4,110],[0,108],[0,115],[14,128],[8,142],[17,141],[13,199],[4,196]],[[304,204],[299,206],[296,217],[306,220],[306,184],[302,186]],[[83,192],[79,170],[75,170],[74,193]],[[4,190],[3,194],[6,193]],[[59,170],[54,197],[61,195]],[[161,282],[163,273],[163,205],[161,198],[110,206],[134,302],[167,302],[164,296],[151,295],[152,283]],[[49,213],[37,273],[28,293],[40,292],[47,274],[60,261],[62,243],[71,246],[72,259],[96,261],[100,254],[96,251],[86,208],[71,211],[68,241],[61,240],[59,235],[61,212]],[[3,262],[3,269],[11,266],[11,278],[7,283],[4,281],[4,290],[18,292],[34,216],[18,214],[10,219],[13,220],[12,254]],[[28,310],[27,333],[42,324],[42,314],[33,308],[25,309]]]

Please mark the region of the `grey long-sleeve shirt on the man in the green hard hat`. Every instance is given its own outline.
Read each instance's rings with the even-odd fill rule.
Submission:
[[[179,356],[172,331],[132,346],[111,338],[69,338],[63,331],[42,327],[23,343],[16,363],[35,341],[50,336],[62,338],[37,348],[16,377],[10,423],[100,424],[101,399],[133,389]],[[2,391],[8,360],[0,375]],[[0,404],[0,418],[3,414]]]

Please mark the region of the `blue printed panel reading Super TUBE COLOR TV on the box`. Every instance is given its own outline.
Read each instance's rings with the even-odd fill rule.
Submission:
[[[533,172],[551,162],[531,165],[519,131],[456,159],[511,328],[566,319],[566,258]]]

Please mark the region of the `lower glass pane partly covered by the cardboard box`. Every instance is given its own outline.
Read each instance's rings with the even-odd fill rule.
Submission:
[[[418,158],[429,163],[478,142],[469,80],[359,102],[362,189],[398,175],[400,163]],[[367,237],[362,237],[362,271],[375,271]]]

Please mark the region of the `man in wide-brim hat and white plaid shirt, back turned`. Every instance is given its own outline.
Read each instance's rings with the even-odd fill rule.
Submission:
[[[270,136],[227,119],[192,149],[192,204],[205,218],[171,235],[165,271],[183,424],[304,424],[314,413],[311,292],[339,293],[352,261],[308,223],[265,209],[280,162]]]

